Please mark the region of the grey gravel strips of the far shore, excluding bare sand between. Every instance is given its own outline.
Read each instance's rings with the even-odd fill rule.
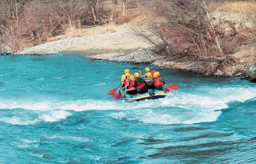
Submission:
[[[87,46],[91,42],[103,41],[112,42],[116,40],[142,40],[142,38],[136,36],[131,31],[119,32],[119,33],[108,33],[101,34],[98,36],[90,37],[80,37],[80,38],[65,38],[61,40],[56,40],[53,42],[48,42],[45,44],[40,44],[38,46],[25,48],[23,51],[18,51],[15,54],[19,55],[47,55],[47,54],[57,54],[63,52],[70,47],[75,47],[77,45]],[[174,70],[184,70],[193,71],[196,73],[201,73],[207,76],[206,66],[202,61],[173,61],[170,58],[163,58],[154,53],[153,46],[147,48],[141,48],[138,51],[131,53],[124,52],[114,52],[107,54],[98,54],[87,56],[86,58],[92,60],[106,60],[119,63],[133,63],[133,64],[148,64],[154,67],[159,67],[160,69],[174,69]],[[103,50],[104,51],[104,50]],[[211,65],[216,63],[212,62]],[[252,79],[256,75],[256,64],[246,65],[240,63],[235,66],[227,67],[225,72],[218,70],[213,75],[218,77],[235,77],[241,76],[243,78]],[[255,77],[256,78],[256,77]],[[253,80],[252,80],[253,81]]]

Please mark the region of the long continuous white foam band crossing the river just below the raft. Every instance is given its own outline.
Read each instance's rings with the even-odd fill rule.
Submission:
[[[84,110],[128,110],[128,109],[141,109],[141,108],[158,108],[166,106],[176,106],[192,110],[217,110],[228,107],[230,101],[244,102],[248,99],[256,97],[256,89],[248,88],[222,88],[212,89],[211,96],[200,94],[188,94],[181,91],[176,91],[174,94],[169,93],[165,98],[157,100],[145,100],[140,102],[131,101],[117,101],[110,98],[110,100],[76,100],[76,101],[11,101],[0,100],[0,109],[14,109],[24,108],[28,110],[53,110],[64,109],[74,111]],[[217,93],[217,94],[216,94]]]

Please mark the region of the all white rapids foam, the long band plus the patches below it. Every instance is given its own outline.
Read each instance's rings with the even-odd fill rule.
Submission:
[[[197,90],[198,91],[198,90]],[[256,88],[254,87],[223,87],[212,88],[211,90],[201,93],[188,94],[182,91],[175,91],[169,93],[165,98],[157,100],[145,100],[140,102],[135,101],[118,101],[110,98],[109,100],[76,100],[76,101],[11,101],[0,100],[0,109],[14,109],[24,108],[27,110],[41,110],[44,112],[42,116],[36,119],[19,118],[19,117],[4,117],[0,118],[0,121],[4,121],[14,125],[33,125],[40,121],[53,122],[61,119],[65,119],[71,116],[71,113],[65,110],[84,111],[84,110],[130,110],[138,109],[138,111],[144,111],[146,109],[154,109],[159,107],[180,107],[184,110],[188,109],[188,112],[181,116],[181,113],[166,112],[161,113],[159,111],[151,110],[147,113],[133,113],[133,117],[129,116],[127,112],[113,112],[109,116],[121,120],[126,118],[127,120],[138,120],[143,123],[152,124],[193,124],[198,122],[216,121],[221,112],[214,110],[228,108],[228,103],[231,101],[244,102],[248,99],[256,97]],[[140,110],[143,109],[143,110]],[[190,111],[190,113],[189,113]],[[136,116],[136,117],[135,117]]]

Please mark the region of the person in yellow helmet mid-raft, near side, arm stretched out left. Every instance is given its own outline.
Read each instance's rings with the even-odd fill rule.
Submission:
[[[147,88],[144,80],[142,78],[139,78],[139,76],[140,75],[138,72],[134,73],[134,77],[135,77],[134,85],[133,85],[133,87],[131,87],[129,89],[125,89],[125,91],[136,90],[137,93],[139,93],[139,94],[143,94],[148,91],[148,88]]]

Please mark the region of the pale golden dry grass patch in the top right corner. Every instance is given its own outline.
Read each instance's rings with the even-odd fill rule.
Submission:
[[[242,14],[255,14],[256,2],[255,0],[225,2],[225,9],[230,12],[238,12]]]

